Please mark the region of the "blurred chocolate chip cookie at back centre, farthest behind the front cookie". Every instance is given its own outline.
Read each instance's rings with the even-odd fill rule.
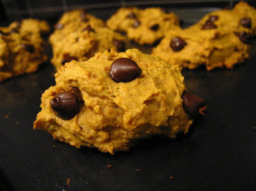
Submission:
[[[153,44],[166,31],[180,28],[179,18],[161,8],[122,7],[106,22],[115,31],[126,32],[129,40],[143,44]]]

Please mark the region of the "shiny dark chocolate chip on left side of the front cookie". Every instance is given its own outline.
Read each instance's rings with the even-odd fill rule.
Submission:
[[[71,92],[60,92],[50,101],[50,105],[56,116],[64,120],[75,117],[79,112],[79,101]]]

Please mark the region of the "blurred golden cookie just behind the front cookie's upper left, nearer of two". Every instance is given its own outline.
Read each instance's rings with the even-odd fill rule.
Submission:
[[[67,28],[68,30],[68,28]],[[83,25],[53,44],[51,62],[58,69],[72,60],[85,61],[96,52],[125,50],[125,37],[107,27]]]

